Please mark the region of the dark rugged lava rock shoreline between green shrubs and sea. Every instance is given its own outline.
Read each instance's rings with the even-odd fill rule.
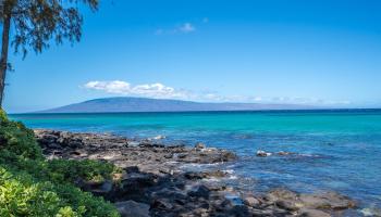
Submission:
[[[208,179],[228,176],[223,170],[186,171],[187,164],[216,164],[237,159],[225,150],[197,143],[163,145],[161,138],[133,140],[102,133],[35,130],[48,158],[99,159],[123,173],[115,180],[76,183],[115,204],[122,216],[343,216],[356,204],[335,192],[299,194],[273,189],[266,194],[241,192]],[[239,195],[238,202],[226,195]]]

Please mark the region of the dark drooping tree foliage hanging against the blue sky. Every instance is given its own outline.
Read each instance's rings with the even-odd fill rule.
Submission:
[[[98,0],[3,0],[0,18],[12,17],[12,46],[25,58],[28,50],[36,53],[49,48],[49,42],[62,43],[64,39],[75,42],[81,39],[83,17],[78,3],[96,11]]]

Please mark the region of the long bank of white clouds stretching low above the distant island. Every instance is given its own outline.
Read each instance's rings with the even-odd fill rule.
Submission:
[[[290,98],[290,97],[258,97],[258,95],[222,95],[214,91],[190,91],[175,89],[160,82],[131,85],[123,80],[88,81],[83,86],[85,89],[103,91],[118,95],[144,97],[155,99],[177,99],[199,102],[250,102],[250,103],[280,103],[280,104],[305,104],[321,106],[345,106],[349,101],[324,101],[315,98]]]

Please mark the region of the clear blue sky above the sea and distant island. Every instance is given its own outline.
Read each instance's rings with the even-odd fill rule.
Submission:
[[[11,50],[4,107],[107,97],[381,107],[381,1],[103,0],[81,42]]]

